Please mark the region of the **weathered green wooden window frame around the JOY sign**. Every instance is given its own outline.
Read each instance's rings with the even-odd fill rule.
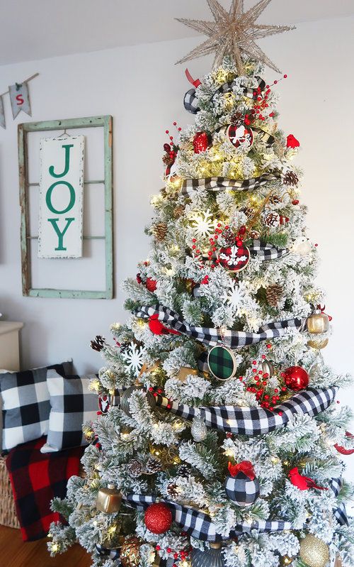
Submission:
[[[28,182],[28,132],[68,130],[70,128],[103,127],[104,138],[104,180],[84,181],[84,185],[104,183],[105,187],[105,236],[84,236],[84,239],[105,240],[105,290],[55,290],[33,288],[30,270],[30,241],[38,236],[30,236],[28,188],[39,183]],[[26,297],[64,297],[75,299],[113,299],[113,117],[91,116],[45,122],[25,122],[18,124],[18,167],[20,175],[21,206],[21,264],[22,293]]]

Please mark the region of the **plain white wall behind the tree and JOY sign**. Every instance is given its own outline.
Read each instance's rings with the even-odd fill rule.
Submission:
[[[319,281],[326,288],[326,310],[335,334],[325,356],[339,372],[353,370],[353,126],[354,18],[305,23],[297,31],[263,43],[289,78],[279,84],[281,126],[302,143],[303,199],[309,205],[309,234],[319,243]],[[34,72],[30,83],[32,118],[64,119],[112,114],[114,117],[115,277],[113,301],[34,299],[21,296],[16,123],[6,102],[7,128],[0,128],[0,311],[25,322],[23,368],[72,357],[80,372],[96,370],[101,358],[89,348],[95,334],[109,335],[113,321],[124,321],[122,280],[135,275],[149,241],[149,196],[161,187],[164,131],[174,120],[190,121],[183,109],[189,88],[184,67],[174,62],[196,40],[58,57],[0,67],[0,92]],[[193,76],[210,70],[210,60],[189,65]],[[268,80],[275,77],[268,73]],[[96,275],[92,273],[92,284]],[[354,390],[343,401],[354,408]],[[354,471],[354,466],[353,466]]]

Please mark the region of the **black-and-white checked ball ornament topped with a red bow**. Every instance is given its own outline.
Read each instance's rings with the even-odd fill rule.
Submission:
[[[229,475],[225,481],[227,496],[238,506],[251,506],[259,496],[259,482],[250,461],[236,465],[229,463]]]

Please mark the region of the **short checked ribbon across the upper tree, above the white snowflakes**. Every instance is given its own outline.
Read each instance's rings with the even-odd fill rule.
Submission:
[[[204,177],[202,179],[185,179],[181,187],[181,194],[193,194],[196,189],[202,187],[207,191],[220,191],[230,189],[231,191],[253,191],[270,181],[280,179],[280,172],[263,173],[259,177],[251,177],[243,181],[228,179],[227,177]]]

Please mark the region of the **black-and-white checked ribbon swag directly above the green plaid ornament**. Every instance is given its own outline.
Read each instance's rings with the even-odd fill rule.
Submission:
[[[286,319],[285,321],[276,321],[263,325],[261,329],[258,329],[258,333],[231,331],[227,329],[221,336],[220,329],[188,325],[187,321],[178,313],[169,309],[169,307],[164,307],[159,304],[139,307],[139,309],[135,310],[134,314],[141,319],[149,319],[150,316],[157,315],[159,321],[166,323],[171,329],[183,335],[191,336],[208,346],[216,346],[222,343],[224,346],[231,348],[249,346],[251,344],[260,343],[261,341],[284,336],[288,329],[303,331],[306,324],[306,319]]]

